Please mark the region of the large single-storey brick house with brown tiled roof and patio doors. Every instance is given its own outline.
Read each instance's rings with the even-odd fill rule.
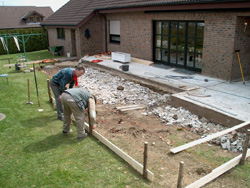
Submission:
[[[81,58],[102,51],[233,81],[250,75],[250,1],[71,0],[45,20],[50,46]]]

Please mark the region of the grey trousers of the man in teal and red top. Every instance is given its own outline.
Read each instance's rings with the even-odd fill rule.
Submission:
[[[50,79],[49,85],[55,95],[57,117],[61,119],[63,117],[63,107],[62,103],[58,100],[60,95],[60,85],[56,84],[52,79]]]

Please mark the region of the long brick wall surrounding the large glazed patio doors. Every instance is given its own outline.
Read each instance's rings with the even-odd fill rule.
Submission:
[[[130,53],[132,57],[153,60],[153,21],[187,20],[204,21],[204,49],[202,74],[231,81],[239,75],[232,74],[234,45],[238,16],[250,16],[250,12],[179,12],[179,13],[116,13],[107,14],[107,21],[120,20],[120,44],[109,43],[108,51]],[[249,46],[249,39],[245,42]],[[241,44],[239,44],[241,45]],[[249,49],[249,48],[248,48]],[[246,68],[249,69],[249,68]]]

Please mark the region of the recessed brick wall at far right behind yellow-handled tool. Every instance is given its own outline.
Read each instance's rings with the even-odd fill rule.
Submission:
[[[244,22],[248,25],[245,28]],[[244,77],[250,78],[250,17],[238,17],[236,25],[235,50],[240,50],[240,61]],[[234,53],[232,80],[242,78],[237,54]]]

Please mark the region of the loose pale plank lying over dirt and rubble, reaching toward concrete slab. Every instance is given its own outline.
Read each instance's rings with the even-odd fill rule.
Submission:
[[[193,141],[193,142],[190,142],[190,143],[184,144],[184,145],[182,145],[182,146],[173,148],[173,149],[171,149],[170,151],[171,151],[172,153],[178,153],[178,152],[183,151],[183,150],[185,150],[185,149],[187,149],[187,148],[190,148],[190,147],[193,147],[193,146],[195,146],[195,145],[198,145],[198,144],[207,142],[207,141],[212,140],[212,139],[214,139],[214,138],[217,138],[217,137],[219,137],[219,136],[222,136],[222,135],[225,135],[225,134],[227,134],[227,133],[230,133],[230,132],[232,132],[232,131],[234,131],[234,130],[236,130],[236,129],[245,127],[245,126],[247,126],[247,125],[249,125],[249,124],[250,124],[250,121],[246,121],[246,122],[244,122],[244,123],[241,123],[241,124],[239,124],[239,125],[237,125],[237,126],[234,126],[234,127],[232,127],[232,128],[226,129],[226,130],[224,130],[224,131],[221,131],[221,132],[218,132],[218,133],[215,133],[215,134],[211,134],[211,135],[208,135],[208,136],[205,137],[205,138],[201,138],[201,139],[199,139],[199,140],[195,140],[195,141]]]

